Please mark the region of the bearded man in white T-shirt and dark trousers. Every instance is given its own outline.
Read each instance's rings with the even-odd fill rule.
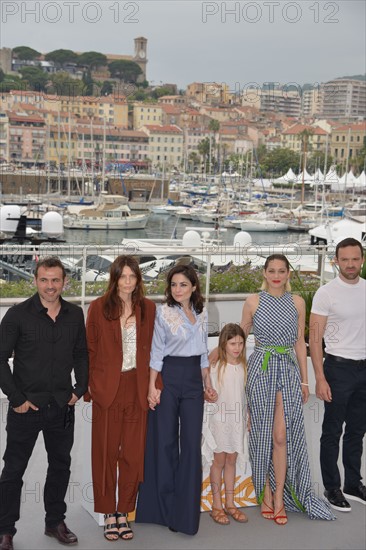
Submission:
[[[366,281],[360,278],[363,259],[362,245],[356,239],[338,243],[335,263],[339,276],[317,290],[310,316],[316,395],[324,401],[320,439],[324,495],[341,512],[351,511],[345,496],[366,504],[366,487],[361,482],[366,432]],[[337,461],[344,424],[343,493]]]

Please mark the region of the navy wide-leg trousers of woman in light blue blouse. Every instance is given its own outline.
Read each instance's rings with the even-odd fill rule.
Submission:
[[[149,412],[136,521],[198,531],[202,485],[201,357],[165,357],[160,405]]]

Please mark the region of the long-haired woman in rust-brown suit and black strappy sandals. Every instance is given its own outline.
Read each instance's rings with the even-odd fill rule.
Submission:
[[[135,508],[143,478],[154,319],[155,304],[144,298],[138,262],[119,256],[86,322],[94,509],[104,514],[110,541],[133,537],[127,513]]]

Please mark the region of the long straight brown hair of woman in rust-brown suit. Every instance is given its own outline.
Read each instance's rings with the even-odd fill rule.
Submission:
[[[136,287],[132,292],[132,315],[136,306],[141,307],[141,318],[144,316],[144,285],[138,261],[133,256],[118,256],[109,268],[109,283],[104,294],[103,313],[106,319],[118,319],[124,311],[124,302],[118,295],[118,281],[124,267],[129,267],[136,275]]]

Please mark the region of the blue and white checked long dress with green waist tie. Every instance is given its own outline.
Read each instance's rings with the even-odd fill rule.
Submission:
[[[306,512],[311,519],[334,519],[328,503],[316,497],[311,489],[300,369],[293,348],[297,340],[298,312],[289,292],[280,297],[265,291],[259,293],[253,332],[256,346],[248,361],[247,397],[249,454],[258,502],[262,502],[267,476],[272,491],[275,489],[272,429],[276,392],[281,391],[287,441],[286,510]],[[269,346],[276,346],[277,350],[269,352]]]

